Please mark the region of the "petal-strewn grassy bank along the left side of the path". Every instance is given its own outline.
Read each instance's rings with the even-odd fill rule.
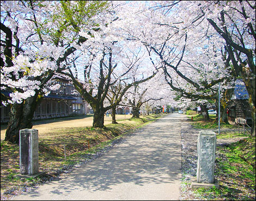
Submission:
[[[46,177],[38,179],[21,179],[14,177],[20,173],[19,146],[1,140],[1,200],[13,194],[19,194],[29,186],[40,181],[57,177],[76,164],[90,160],[104,147],[110,146],[129,131],[156,120],[161,115],[145,118],[132,118],[118,124],[107,124],[105,128],[76,127],[59,128],[39,136],[39,171],[46,172]],[[47,126],[47,124],[45,125]],[[66,160],[64,157],[64,144]]]

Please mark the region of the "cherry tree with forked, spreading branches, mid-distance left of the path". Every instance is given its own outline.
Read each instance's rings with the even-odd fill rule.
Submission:
[[[84,49],[83,52],[90,59],[83,56],[80,60],[82,64],[79,66],[84,72],[84,82],[76,79],[74,76],[76,71],[72,69],[72,66],[70,66],[69,72],[62,73],[71,77],[77,91],[92,106],[94,110],[93,127],[102,128],[104,127],[105,112],[119,105],[125,92],[132,86],[153,78],[156,73],[153,69],[147,75],[145,74],[145,77],[132,79],[131,74],[137,72],[139,66],[149,69],[151,65],[150,62],[141,61],[144,54],[139,55],[141,54],[139,47],[133,45],[127,47],[129,42],[124,44],[123,40],[119,39],[118,41],[118,36],[111,35],[111,33],[106,34],[104,28],[95,34],[99,34],[101,37],[97,38],[94,35],[90,39],[93,40],[92,45],[90,48]],[[106,39],[105,35],[112,40]],[[109,95],[110,92],[112,92],[112,98]],[[109,104],[106,105],[107,100]]]

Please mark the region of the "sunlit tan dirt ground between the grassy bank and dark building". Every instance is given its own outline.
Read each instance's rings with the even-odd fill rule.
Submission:
[[[132,115],[115,115],[117,121],[127,121]],[[104,117],[104,124],[112,122],[112,117]],[[59,128],[71,128],[71,127],[91,127],[93,125],[93,116],[78,116],[78,117],[65,117],[56,118],[51,120],[37,120],[33,121],[33,129],[38,129],[39,134],[50,133],[53,130]],[[5,138],[5,131],[7,124],[1,124],[1,140]]]

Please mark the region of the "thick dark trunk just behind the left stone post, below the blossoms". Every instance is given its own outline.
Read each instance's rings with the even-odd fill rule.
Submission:
[[[10,111],[10,120],[5,133],[5,141],[19,144],[20,142],[20,130],[31,129],[33,127],[32,118],[36,109],[36,106],[40,103],[41,98],[37,98],[35,95],[29,97],[21,104],[14,103]]]

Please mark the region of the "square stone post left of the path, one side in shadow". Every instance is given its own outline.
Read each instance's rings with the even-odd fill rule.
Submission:
[[[38,130],[20,130],[20,172],[22,175],[39,173]]]

